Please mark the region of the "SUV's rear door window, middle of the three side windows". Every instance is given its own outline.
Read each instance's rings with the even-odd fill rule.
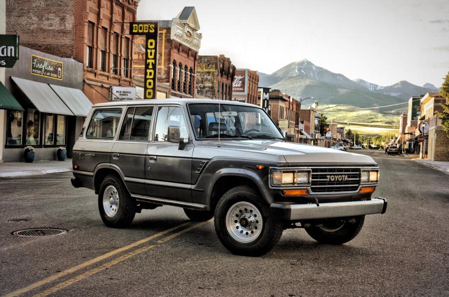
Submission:
[[[126,111],[120,131],[120,140],[148,141],[153,107],[132,107]]]

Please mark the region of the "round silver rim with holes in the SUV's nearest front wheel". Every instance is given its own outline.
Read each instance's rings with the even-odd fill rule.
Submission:
[[[262,233],[262,215],[257,207],[246,201],[229,207],[225,221],[227,233],[239,243],[251,243]]]

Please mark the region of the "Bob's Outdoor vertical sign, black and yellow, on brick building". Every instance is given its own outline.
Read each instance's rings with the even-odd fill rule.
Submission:
[[[146,36],[144,99],[155,99],[158,76],[158,22],[131,22],[129,30],[131,35]]]

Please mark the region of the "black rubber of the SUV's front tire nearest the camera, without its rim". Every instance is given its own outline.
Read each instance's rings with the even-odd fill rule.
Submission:
[[[260,231],[257,231],[259,232],[257,237],[248,243],[233,239],[226,227],[228,210],[239,202],[252,204],[262,217],[261,223],[263,223],[261,229],[259,228]],[[259,221],[256,222],[259,223]],[[254,228],[257,229],[257,225],[254,225]],[[232,254],[256,257],[266,254],[277,244],[282,235],[283,224],[271,215],[268,205],[253,188],[241,185],[228,190],[218,202],[215,209],[215,231],[222,244]],[[246,235],[248,235],[247,232]]]

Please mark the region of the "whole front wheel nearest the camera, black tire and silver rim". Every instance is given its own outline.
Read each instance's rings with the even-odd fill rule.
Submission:
[[[215,230],[231,253],[261,256],[277,244],[283,224],[272,217],[268,205],[253,188],[237,186],[217,204]]]

